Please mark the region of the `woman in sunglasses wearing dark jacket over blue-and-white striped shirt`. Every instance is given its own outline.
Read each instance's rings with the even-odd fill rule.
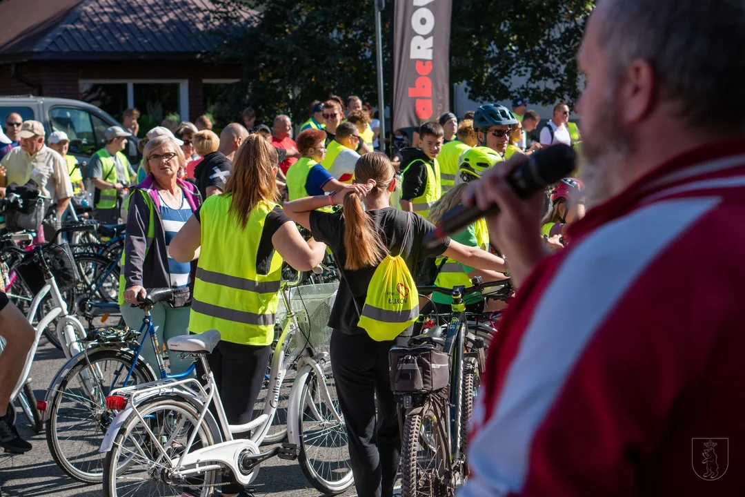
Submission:
[[[186,166],[186,158],[171,136],[148,139],[142,165],[145,180],[133,188],[124,204],[127,209],[121,259],[124,282],[119,285],[119,306],[124,323],[136,329],[142,324],[143,312],[130,304],[145,297],[146,288],[174,288],[180,300],[188,300],[191,264],[171,258],[169,246],[202,203],[197,187],[178,178],[178,172]],[[170,303],[159,302],[150,312],[159,344],[167,344],[168,338],[173,336],[188,334],[188,306],[174,308]],[[142,355],[157,371],[153,348],[143,347]],[[169,355],[169,359],[171,373],[183,373],[191,364],[191,361],[181,360],[178,354]]]

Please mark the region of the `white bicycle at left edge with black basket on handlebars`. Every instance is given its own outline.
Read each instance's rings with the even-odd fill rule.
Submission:
[[[89,227],[87,225],[80,225],[77,227],[58,229],[52,239],[54,240],[57,238],[57,235],[60,235],[61,232],[71,232],[81,229],[89,229]],[[28,234],[4,235],[6,239],[15,239],[16,241],[28,240],[28,237],[30,236],[31,235]],[[31,323],[32,326],[34,320],[36,320],[39,304],[42,303],[42,300],[45,300],[47,295],[51,295],[53,307],[44,312],[44,316],[38,320],[37,326],[34,327],[34,345],[31,346],[31,349],[28,351],[21,376],[16,383],[16,387],[13,388],[13,392],[10,394],[11,400],[16,398],[19,399],[23,413],[31,423],[31,428],[33,428],[37,433],[39,433],[43,428],[43,420],[42,415],[39,412],[37,399],[34,396],[34,390],[31,388],[31,379],[28,378],[28,374],[31,372],[31,363],[34,360],[34,355],[36,354],[42,332],[46,329],[49,323],[57,320],[57,338],[61,344],[64,344],[63,351],[68,357],[80,352],[77,341],[85,335],[83,325],[80,321],[78,321],[74,316],[68,314],[67,304],[60,292],[60,287],[57,285],[57,276],[55,276],[55,273],[58,271],[58,265],[60,264],[59,258],[62,253],[65,253],[65,249],[59,245],[55,245],[52,241],[46,244],[37,245],[31,251],[19,249],[12,245],[0,250],[0,266],[2,266],[2,273],[9,273],[6,261],[11,258],[12,254],[18,254],[22,256],[22,261],[19,265],[16,265],[16,268],[18,268],[19,271],[22,271],[22,278],[28,278],[27,285],[32,288],[34,288],[34,285],[41,285],[41,288],[39,288],[37,293],[34,295],[34,299],[31,301],[31,306],[27,314],[28,322]],[[24,268],[22,268],[21,265],[24,265]],[[26,267],[33,267],[34,269],[28,270],[25,269]],[[69,282],[66,284],[69,284]],[[2,347],[0,344],[0,350],[1,349]]]

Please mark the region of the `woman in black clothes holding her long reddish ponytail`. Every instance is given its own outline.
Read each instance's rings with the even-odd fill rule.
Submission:
[[[393,496],[401,449],[388,373],[388,350],[396,341],[374,341],[357,326],[378,264],[387,254],[400,253],[414,274],[419,261],[445,254],[474,268],[504,270],[498,257],[449,238],[426,247],[423,240],[434,225],[390,206],[394,172],[384,153],[367,153],[355,165],[355,184],[329,196],[285,203],[285,214],[326,243],[340,265],[341,282],[329,318],[334,329],[331,364],[360,497]],[[339,203],[344,206],[340,214],[316,210]],[[398,340],[405,343],[408,336],[410,331]]]

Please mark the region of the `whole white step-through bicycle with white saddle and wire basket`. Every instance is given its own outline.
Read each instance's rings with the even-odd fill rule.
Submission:
[[[238,483],[250,484],[256,478],[259,464],[274,455],[288,459],[299,456],[306,477],[325,493],[346,490],[352,484],[352,470],[343,417],[338,402],[332,399],[333,376],[328,355],[316,352],[313,330],[308,333],[302,330],[298,323],[302,313],[296,311],[297,302],[303,300],[302,293],[317,291],[317,286],[294,288],[299,298],[293,299],[291,284],[282,284],[287,314],[273,350],[269,402],[264,403],[262,414],[252,421],[244,425],[227,422],[206,361],[206,355],[220,341],[215,330],[168,341],[171,350],[201,361],[206,371],[204,384],[197,379],[162,380],[112,391],[107,405],[126,408],[117,415],[101,444],[101,452],[108,453],[104,467],[106,495],[155,487],[158,492],[197,489],[201,496],[207,496],[212,487],[220,485],[218,474],[229,471]],[[326,306],[332,297],[333,293],[322,299]],[[313,323],[308,311],[300,317]],[[325,323],[323,333],[328,333]],[[288,402],[289,443],[262,454],[259,445],[276,415],[282,380],[293,365],[297,376]],[[243,432],[250,432],[250,438],[234,439],[233,434]],[[343,440],[343,445],[338,444],[339,440]],[[136,489],[127,489],[135,485]]]

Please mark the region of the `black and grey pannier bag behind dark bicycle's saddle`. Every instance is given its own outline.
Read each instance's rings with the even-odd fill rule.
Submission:
[[[449,357],[431,346],[391,347],[388,352],[393,393],[431,393],[450,381]]]

